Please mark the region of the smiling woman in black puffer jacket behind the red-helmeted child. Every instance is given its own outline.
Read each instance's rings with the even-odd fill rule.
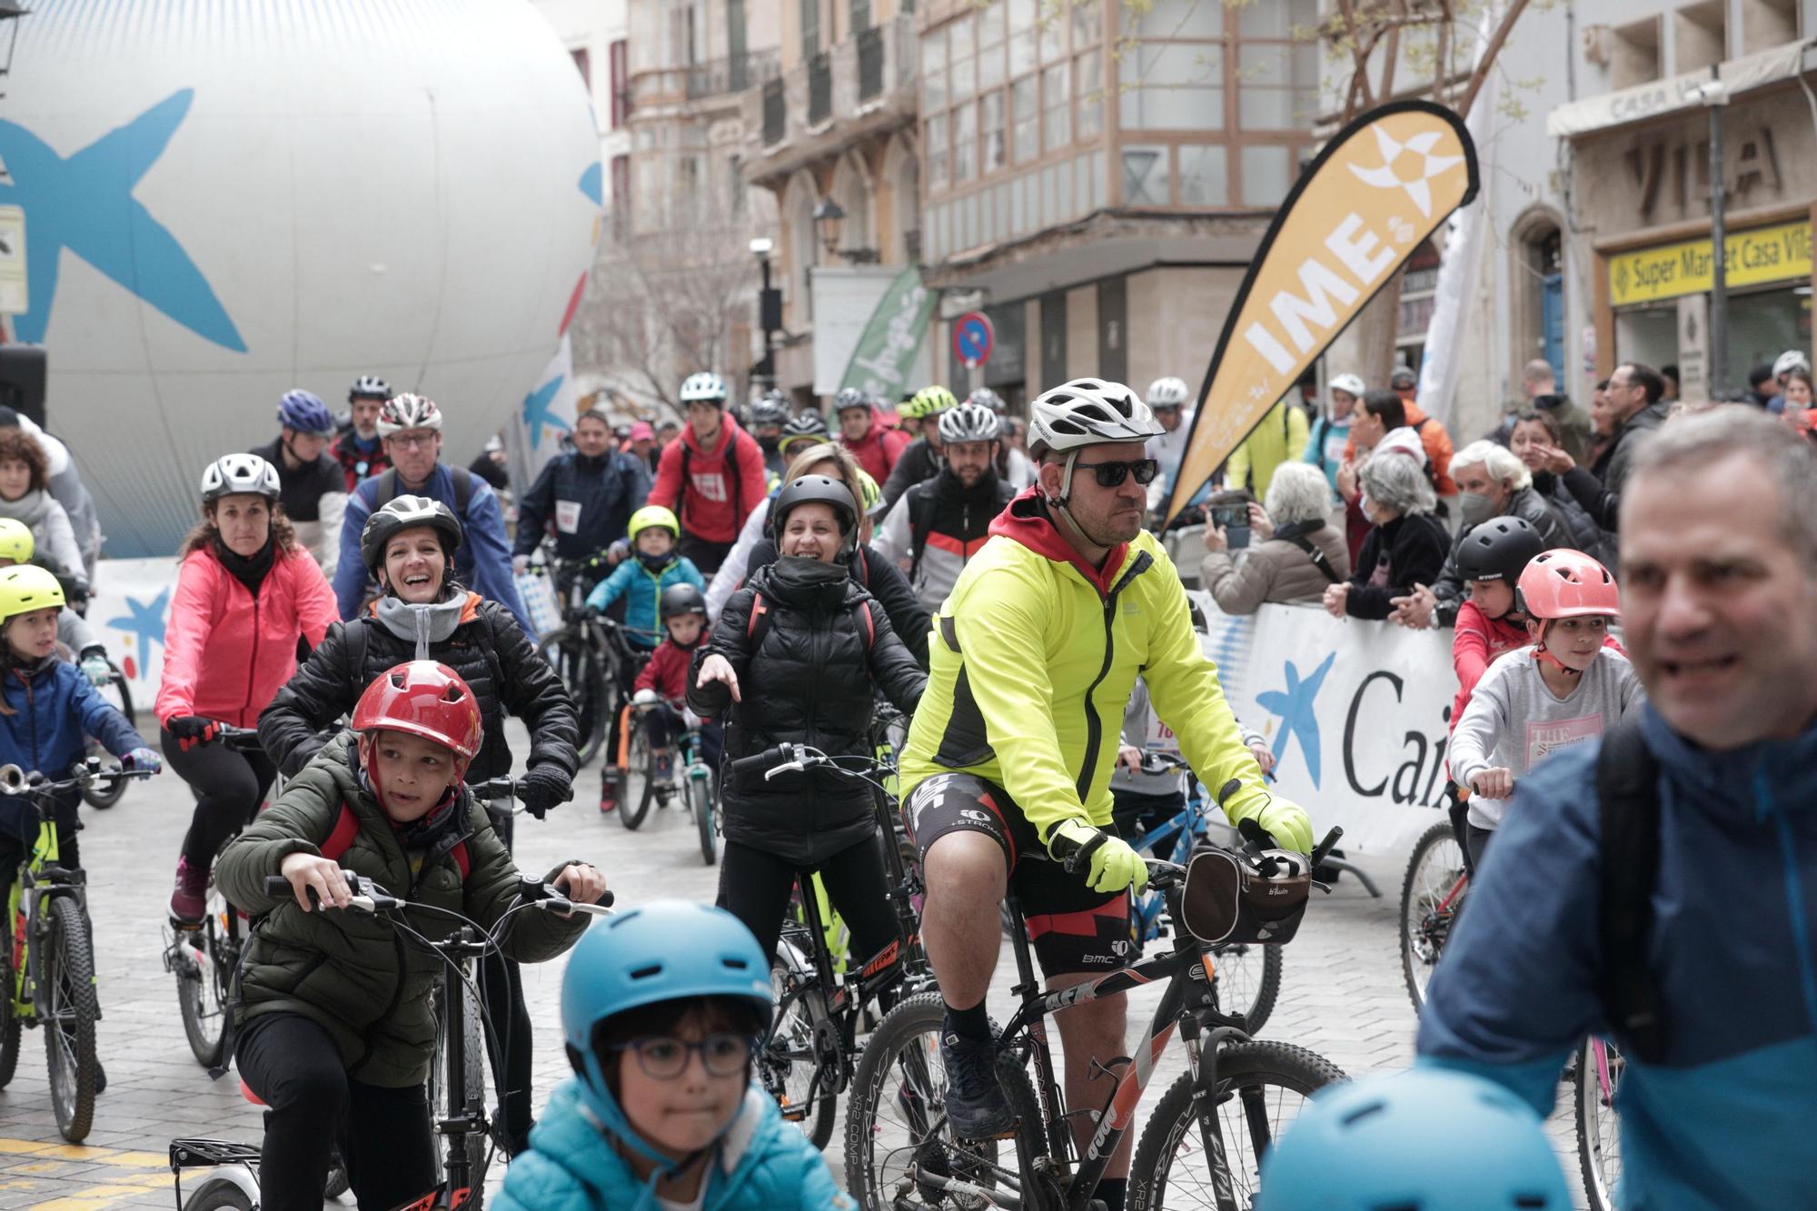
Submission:
[[[529,769],[520,793],[525,809],[541,820],[571,796],[580,764],[574,700],[509,609],[454,582],[460,544],[454,513],[427,496],[398,496],[367,518],[360,556],[382,585],[380,598],[371,613],[331,626],[322,646],[258,716],[258,742],[285,776],[309,764],[327,742],[322,729],[351,715],[376,676],[405,660],[436,660],[460,673],[485,720],[485,742],[467,767],[467,782],[511,773],[505,744],[505,715],[511,713],[531,729]],[[511,811],[491,815],[509,849]],[[500,1087],[509,1089],[505,1146],[516,1155],[529,1147],[531,1136],[531,1015],[518,966],[487,956],[485,993],[487,1013],[500,1024],[496,1042],[511,1040],[500,1064],[505,1073]],[[487,1044],[492,1042],[487,1035]]]

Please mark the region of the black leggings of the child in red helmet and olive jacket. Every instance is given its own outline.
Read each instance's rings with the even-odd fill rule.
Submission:
[[[271,1107],[258,1171],[265,1211],[322,1211],[336,1142],[362,1211],[420,1198],[440,1180],[423,1086],[354,1080],[329,1033],[300,1013],[247,1022],[234,1058],[240,1078]]]

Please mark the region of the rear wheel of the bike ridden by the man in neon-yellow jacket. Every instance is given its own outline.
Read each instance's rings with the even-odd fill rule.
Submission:
[[[1016,1173],[1016,1147],[1047,1151],[1028,1073],[1014,1062],[998,1066],[998,1080],[1019,1120],[1018,1144],[999,1158],[1003,1140],[954,1138],[939,1060],[945,1020],[939,993],[921,993],[896,1006],[865,1044],[845,1106],[845,1187],[863,1211],[983,1211],[990,1206],[983,1196],[943,1191],[939,1178],[996,1189],[998,1166]]]

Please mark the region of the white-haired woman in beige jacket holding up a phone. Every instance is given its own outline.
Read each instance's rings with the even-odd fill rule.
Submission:
[[[1283,462],[1263,504],[1250,504],[1256,545],[1239,564],[1221,525],[1205,527],[1201,578],[1217,609],[1254,615],[1263,602],[1317,606],[1325,589],[1350,576],[1345,533],[1332,525],[1332,491],[1325,473],[1305,462]]]

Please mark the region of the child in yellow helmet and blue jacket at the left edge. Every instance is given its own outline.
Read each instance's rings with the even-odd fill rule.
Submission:
[[[33,564],[0,571],[0,764],[56,782],[87,755],[87,736],[120,758],[122,769],[164,767],[125,716],[94,691],[76,666],[58,658],[56,616],[64,585]],[[58,862],[80,869],[76,800],[56,796]],[[0,900],[38,835],[36,815],[0,795]]]

